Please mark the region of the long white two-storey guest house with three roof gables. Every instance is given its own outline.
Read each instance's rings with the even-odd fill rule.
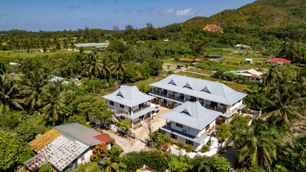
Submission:
[[[186,101],[199,101],[203,107],[221,112],[216,120],[218,124],[240,112],[245,107],[242,99],[247,95],[218,81],[176,74],[149,85],[153,87],[149,95],[157,97],[154,99],[156,103],[172,109]]]

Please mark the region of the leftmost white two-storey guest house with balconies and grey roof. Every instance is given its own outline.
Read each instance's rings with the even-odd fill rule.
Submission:
[[[114,109],[115,118],[118,121],[131,121],[132,128],[152,118],[152,113],[155,113],[155,106],[151,104],[155,97],[140,92],[136,86],[123,85],[102,97]]]

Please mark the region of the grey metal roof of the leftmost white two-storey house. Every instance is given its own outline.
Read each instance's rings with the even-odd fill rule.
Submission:
[[[118,95],[118,93],[121,96]],[[123,85],[118,90],[114,91],[109,95],[102,96],[104,99],[117,102],[128,107],[138,106],[140,103],[147,102],[151,99],[154,99],[154,96],[146,95],[138,90],[136,86]]]

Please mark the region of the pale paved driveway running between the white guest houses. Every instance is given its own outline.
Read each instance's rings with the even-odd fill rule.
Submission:
[[[166,119],[160,118],[159,116],[170,110],[159,105],[157,106],[159,107],[159,112],[153,119],[150,119],[152,132],[158,130],[159,127],[162,127],[166,124]],[[124,152],[149,150],[150,148],[146,146],[149,134],[148,123],[148,121],[144,122],[142,123],[141,127],[137,128],[136,130],[132,130],[132,132],[135,133],[136,139],[128,139],[122,137],[119,134],[115,134],[114,131],[110,130],[106,131],[106,133],[109,133],[110,137],[116,140],[116,143],[121,146],[121,148],[123,148]]]

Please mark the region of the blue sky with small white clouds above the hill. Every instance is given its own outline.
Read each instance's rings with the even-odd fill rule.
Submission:
[[[122,30],[131,24],[143,28],[181,23],[195,16],[209,17],[255,0],[0,0],[0,30],[76,30],[78,28]]]

